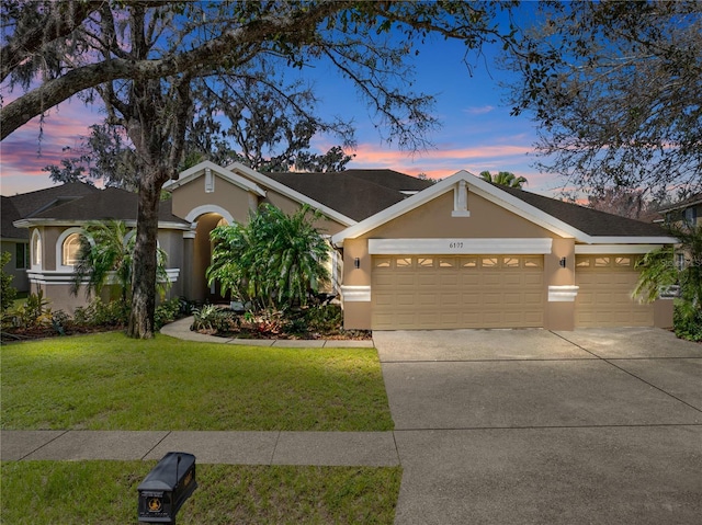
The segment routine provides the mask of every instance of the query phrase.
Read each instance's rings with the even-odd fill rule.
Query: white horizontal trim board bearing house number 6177
[[[551,253],[553,239],[369,239],[371,255],[421,254],[516,254],[539,255]]]

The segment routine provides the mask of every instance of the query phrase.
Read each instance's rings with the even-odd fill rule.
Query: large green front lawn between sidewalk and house
[[[0,347],[4,430],[386,431],[374,349],[275,349],[121,333]]]

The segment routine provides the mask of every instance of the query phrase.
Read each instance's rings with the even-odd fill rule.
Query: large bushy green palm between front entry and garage
[[[218,281],[223,293],[258,309],[305,305],[329,279],[329,246],[313,224],[320,217],[309,206],[286,215],[264,204],[246,226],[215,228],[210,284]]]

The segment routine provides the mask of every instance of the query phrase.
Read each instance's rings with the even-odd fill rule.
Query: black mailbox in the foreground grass
[[[176,524],[176,514],[196,488],[195,456],[169,452],[137,488],[139,522]]]

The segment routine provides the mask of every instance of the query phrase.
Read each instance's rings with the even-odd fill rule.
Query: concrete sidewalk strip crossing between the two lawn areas
[[[201,464],[399,465],[393,432],[1,431],[3,461],[160,459],[186,452]]]

